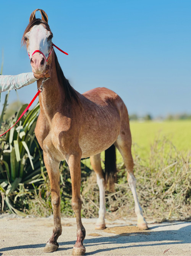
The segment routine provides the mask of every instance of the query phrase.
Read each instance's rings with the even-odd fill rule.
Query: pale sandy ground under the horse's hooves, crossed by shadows
[[[191,222],[152,223],[149,230],[136,227],[135,220],[106,221],[107,229],[94,230],[96,219],[83,219],[86,255],[191,255]],[[1,255],[71,255],[76,241],[75,218],[62,218],[59,248],[43,253],[52,235],[53,218],[18,218],[0,215]]]

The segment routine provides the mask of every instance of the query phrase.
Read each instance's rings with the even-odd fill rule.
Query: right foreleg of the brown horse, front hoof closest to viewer
[[[77,154],[78,155],[78,154]],[[84,255],[86,248],[83,245],[84,238],[86,236],[86,230],[82,225],[81,221],[81,197],[80,197],[80,187],[81,187],[81,165],[80,156],[71,155],[68,159],[68,165],[70,168],[70,176],[72,183],[72,208],[76,215],[77,223],[77,241],[73,248],[72,255]]]

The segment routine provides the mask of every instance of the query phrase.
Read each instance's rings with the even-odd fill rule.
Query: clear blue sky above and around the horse
[[[139,116],[191,113],[190,0],[2,1],[3,74],[31,71],[21,37],[37,8],[49,17],[53,43],[69,54],[55,50],[77,91],[110,88]],[[36,91],[31,84],[19,98],[29,103]],[[11,91],[9,103],[15,100]]]

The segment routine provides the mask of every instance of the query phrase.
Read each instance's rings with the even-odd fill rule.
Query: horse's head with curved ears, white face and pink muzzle
[[[35,17],[37,11],[40,11],[42,19]],[[34,10],[22,38],[31,59],[32,72],[36,74],[44,72],[52,52],[52,37],[47,14],[41,9]]]

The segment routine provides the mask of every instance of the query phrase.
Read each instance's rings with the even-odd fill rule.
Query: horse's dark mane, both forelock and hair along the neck
[[[49,24],[47,22],[45,22],[44,20],[41,20],[39,18],[34,19],[28,24],[28,26],[26,27],[26,29],[23,33],[23,37],[21,40],[21,46],[26,46],[26,41],[24,40],[24,35],[27,32],[29,32],[33,26],[40,25],[40,24],[45,25],[46,30],[48,30],[52,33],[52,31],[50,30]],[[77,92],[70,85],[68,79],[66,79],[63,74],[62,68],[60,67],[60,64],[58,62],[58,58],[57,58],[55,51],[54,51],[54,56],[55,56],[55,66],[56,66],[56,70],[57,70],[58,81],[59,81],[60,85],[63,86],[63,88],[65,90],[66,99],[68,99],[70,102],[73,102],[73,100],[75,99],[76,102],[78,102],[78,104],[81,105]]]

